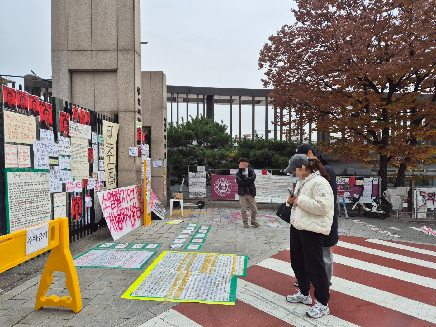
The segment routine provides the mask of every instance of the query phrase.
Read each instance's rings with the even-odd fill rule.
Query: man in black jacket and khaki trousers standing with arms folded
[[[247,203],[251,208],[251,225],[253,227],[260,227],[256,219],[257,204],[256,204],[256,187],[254,181],[256,174],[247,162],[247,159],[239,159],[239,170],[236,173],[236,183],[238,183],[239,203],[241,204],[242,221],[244,228],[249,228],[247,217]]]

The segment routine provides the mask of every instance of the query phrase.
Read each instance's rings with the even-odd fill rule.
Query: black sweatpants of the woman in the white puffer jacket
[[[291,266],[298,280],[298,287],[307,296],[310,283],[315,288],[314,296],[323,305],[330,300],[328,278],[323,258],[324,235],[300,231],[291,225]]]

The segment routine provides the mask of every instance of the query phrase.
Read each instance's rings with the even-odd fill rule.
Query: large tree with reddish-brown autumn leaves
[[[260,53],[266,87],[293,128],[315,123],[344,161],[405,172],[432,162],[436,136],[434,0],[296,0],[296,22]],[[284,121],[283,124],[288,124]]]

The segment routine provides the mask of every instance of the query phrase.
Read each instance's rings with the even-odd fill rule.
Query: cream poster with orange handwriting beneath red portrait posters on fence
[[[35,117],[3,111],[4,141],[33,144],[36,140]]]

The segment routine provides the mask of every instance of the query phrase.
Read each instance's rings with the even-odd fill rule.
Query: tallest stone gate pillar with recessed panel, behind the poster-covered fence
[[[118,187],[141,183],[135,122],[141,87],[140,0],[52,0],[53,96],[118,113]]]

